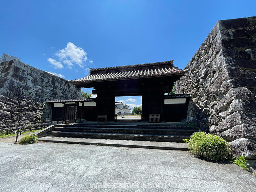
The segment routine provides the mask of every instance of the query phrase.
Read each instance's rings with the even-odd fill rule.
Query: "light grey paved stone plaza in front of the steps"
[[[256,189],[256,177],[237,165],[200,160],[188,151],[46,142],[0,143],[0,148],[0,191],[4,192]],[[93,183],[102,184],[101,188]],[[127,188],[121,188],[124,183]],[[155,183],[164,187],[153,188]]]

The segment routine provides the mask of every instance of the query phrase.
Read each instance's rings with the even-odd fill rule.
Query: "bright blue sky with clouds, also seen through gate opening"
[[[5,0],[0,54],[68,80],[89,68],[172,59],[183,69],[217,20],[256,16],[255,7],[255,0]],[[116,100],[141,103],[139,96]]]

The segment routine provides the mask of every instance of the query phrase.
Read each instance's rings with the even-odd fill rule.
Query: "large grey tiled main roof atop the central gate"
[[[85,82],[110,81],[118,79],[136,79],[155,76],[170,76],[184,74],[188,71],[173,66],[173,60],[145,63],[139,65],[126,65],[108,68],[91,68],[90,74],[82,79],[72,81],[73,84]]]

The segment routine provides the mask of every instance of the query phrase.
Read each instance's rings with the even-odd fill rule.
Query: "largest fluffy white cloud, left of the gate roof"
[[[66,48],[59,50],[56,55],[61,61],[63,60],[63,63],[68,64],[68,68],[72,68],[74,63],[83,68],[83,62],[88,59],[84,49],[71,42],[67,44]]]

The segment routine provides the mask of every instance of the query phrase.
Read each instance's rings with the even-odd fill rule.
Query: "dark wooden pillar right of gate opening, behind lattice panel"
[[[160,114],[161,122],[164,122],[164,92],[142,93],[142,121],[148,121],[148,115]]]

